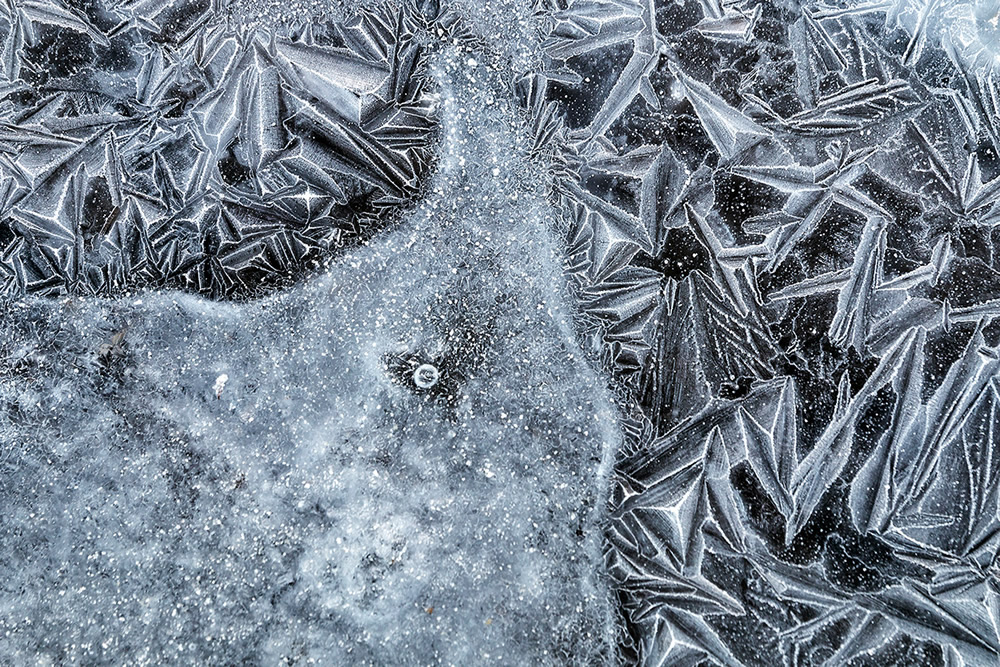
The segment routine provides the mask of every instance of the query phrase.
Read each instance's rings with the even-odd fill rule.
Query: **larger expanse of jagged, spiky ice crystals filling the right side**
[[[554,9],[625,661],[996,664],[998,11]]]

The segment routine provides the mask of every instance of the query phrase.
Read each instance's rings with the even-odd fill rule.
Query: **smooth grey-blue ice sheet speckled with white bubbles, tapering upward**
[[[432,76],[426,197],[328,272],[242,304],[6,307],[6,664],[613,653],[615,415],[574,340],[544,183],[487,66],[445,50]]]

